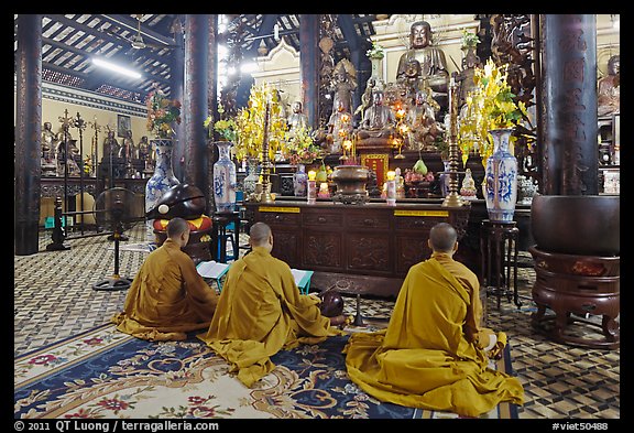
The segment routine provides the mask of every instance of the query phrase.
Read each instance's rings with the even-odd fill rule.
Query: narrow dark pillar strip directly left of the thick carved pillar
[[[183,39],[184,15],[177,15],[172,23],[174,33],[174,42],[178,45],[177,48],[172,51],[172,77],[170,79],[172,87],[172,98],[178,99],[181,104],[185,104],[185,46]],[[181,110],[181,119],[184,118],[184,110]],[[176,142],[172,151],[172,169],[174,175],[178,181],[183,182],[185,177],[185,123],[174,125],[176,131]]]

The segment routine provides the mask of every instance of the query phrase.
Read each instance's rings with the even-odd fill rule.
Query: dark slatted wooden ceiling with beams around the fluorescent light
[[[14,53],[18,48],[14,15]],[[157,85],[170,94],[174,51],[183,50],[183,14],[44,14],[42,79],[131,101],[144,101]],[[350,58],[351,47],[370,46],[374,14],[334,14],[335,61]],[[229,47],[239,45],[243,59],[258,56],[262,43],[274,48],[278,37],[299,51],[298,14],[229,15],[219,35]],[[275,37],[277,36],[277,39]],[[142,78],[128,78],[92,64],[101,56],[130,65]],[[15,59],[14,59],[15,65]]]

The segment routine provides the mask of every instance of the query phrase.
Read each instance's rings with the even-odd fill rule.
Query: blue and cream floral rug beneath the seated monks
[[[196,338],[150,343],[108,324],[17,358],[14,418],[458,418],[365,394],[346,374],[347,340],[280,351],[276,368],[249,389]],[[494,367],[509,371],[509,350]],[[482,418],[517,418],[517,411],[502,403]]]

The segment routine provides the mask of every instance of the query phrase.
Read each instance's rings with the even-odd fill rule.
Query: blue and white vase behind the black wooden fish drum
[[[145,184],[145,213],[156,206],[167,190],[181,183],[172,169],[172,149],[174,148],[172,139],[150,140],[150,145],[156,150],[156,165],[154,174]],[[152,221],[147,221],[147,225],[152,232]]]

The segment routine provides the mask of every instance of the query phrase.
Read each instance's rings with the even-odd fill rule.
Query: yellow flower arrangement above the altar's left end
[[[269,109],[266,109],[269,107]],[[249,95],[247,107],[238,111],[236,125],[238,139],[232,151],[238,160],[258,158],[262,161],[262,147],[264,142],[264,123],[269,110],[267,134],[269,159],[275,160],[275,153],[284,153],[286,119],[282,116],[282,106],[276,89],[263,83],[253,85]]]

